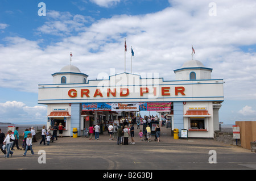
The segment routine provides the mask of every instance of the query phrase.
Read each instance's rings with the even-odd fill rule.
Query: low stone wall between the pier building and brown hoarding
[[[229,145],[241,146],[240,139],[236,140],[233,138],[233,132],[215,131],[214,132],[214,140],[216,140],[218,142],[224,142],[225,144],[229,144]]]

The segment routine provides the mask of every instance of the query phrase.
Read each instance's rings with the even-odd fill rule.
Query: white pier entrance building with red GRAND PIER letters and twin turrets
[[[88,121],[95,124],[99,116],[116,119],[113,116],[117,113],[107,108],[84,111],[90,105],[171,102],[172,129],[187,129],[188,137],[213,138],[218,130],[218,110],[224,101],[223,79],[211,79],[212,69],[197,60],[185,62],[174,73],[175,81],[141,78],[132,73],[88,81],[88,75],[68,65],[52,74],[52,84],[39,85],[38,103],[48,106],[47,127],[53,122],[65,125],[63,136],[72,136],[73,128],[81,136],[89,127]]]

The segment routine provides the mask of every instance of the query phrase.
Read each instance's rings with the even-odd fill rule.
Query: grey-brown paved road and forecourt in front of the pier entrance
[[[137,131],[135,129],[135,131]],[[107,132],[100,140],[64,137],[51,145],[34,143],[35,155],[15,150],[13,157],[0,157],[1,169],[68,169],[68,170],[154,170],[154,169],[256,169],[256,154],[214,140],[174,140],[170,129],[162,130],[161,141],[139,141],[135,145],[117,145]],[[130,140],[129,140],[130,141]],[[46,157],[38,152],[44,150]],[[209,163],[210,150],[216,162]],[[45,158],[45,159],[43,159]],[[46,163],[39,163],[46,161]],[[210,159],[214,161],[214,159]]]

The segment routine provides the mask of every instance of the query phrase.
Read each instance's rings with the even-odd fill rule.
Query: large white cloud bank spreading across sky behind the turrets
[[[113,1],[94,1],[106,6]],[[119,1],[114,1],[118,3]],[[256,54],[240,47],[256,44],[254,1],[215,1],[217,15],[209,16],[209,1],[170,1],[171,7],[145,15],[115,15],[93,19],[69,12],[47,11],[47,22],[39,33],[64,36],[44,49],[39,40],[6,38],[0,47],[5,61],[0,67],[0,85],[22,91],[38,91],[38,84],[52,83],[51,74],[69,64],[89,79],[115,68],[124,70],[124,37],[128,52],[133,46],[134,73],[158,72],[174,80],[174,69],[194,58],[213,68],[212,78],[224,78],[225,99],[256,99]],[[248,21],[250,19],[250,21]],[[87,24],[86,24],[87,23]],[[76,32],[76,33],[74,33]],[[130,56],[126,54],[126,70]],[[146,66],[145,66],[146,65]]]

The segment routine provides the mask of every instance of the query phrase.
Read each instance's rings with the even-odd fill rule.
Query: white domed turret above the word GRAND
[[[63,83],[87,83],[88,75],[81,73],[74,65],[67,65],[59,72],[52,74],[54,84]]]

